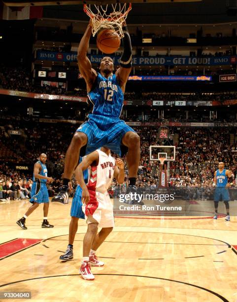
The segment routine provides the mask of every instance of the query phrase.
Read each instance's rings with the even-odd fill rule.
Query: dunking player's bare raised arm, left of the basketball
[[[97,77],[96,71],[91,67],[91,62],[87,57],[87,50],[89,48],[89,41],[91,38],[92,33],[92,22],[90,20],[90,23],[88,24],[86,31],[81,38],[81,41],[78,46],[77,51],[77,61],[78,61],[78,67],[79,72],[84,77],[87,85],[87,91],[91,90],[91,87]]]

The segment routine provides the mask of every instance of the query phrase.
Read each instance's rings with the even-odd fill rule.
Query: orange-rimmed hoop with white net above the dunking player
[[[118,33],[119,38],[124,37],[122,24],[132,9],[132,3],[115,3],[111,5],[84,4],[84,12],[92,20],[92,35],[101,29],[112,29]]]

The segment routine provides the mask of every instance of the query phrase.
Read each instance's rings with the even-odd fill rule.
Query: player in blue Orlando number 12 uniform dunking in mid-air
[[[120,68],[113,74],[113,60],[104,57],[100,65],[100,73],[92,68],[86,56],[92,33],[91,21],[78,47],[79,71],[87,85],[88,99],[93,104],[93,111],[75,132],[65,159],[64,179],[61,192],[53,201],[66,203],[68,182],[78,163],[80,149],[86,146],[86,154],[108,147],[111,151],[121,155],[121,145],[128,148],[127,164],[129,169],[130,191],[135,191],[135,182],[140,159],[140,139],[135,131],[121,120],[125,86],[131,72],[132,46],[126,23],[123,24],[123,54]],[[84,149],[84,148],[83,148]],[[82,154],[81,150],[81,156]]]

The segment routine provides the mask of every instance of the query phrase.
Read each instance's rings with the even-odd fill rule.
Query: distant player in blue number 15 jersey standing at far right
[[[219,201],[224,201],[226,206],[226,218],[225,221],[230,221],[230,195],[228,188],[230,187],[231,183],[234,180],[233,172],[231,170],[224,169],[225,164],[224,162],[219,162],[218,165],[219,169],[214,173],[214,183],[213,186],[215,188],[214,192],[214,206],[215,206],[215,215],[213,219],[217,219],[218,217],[218,203]]]

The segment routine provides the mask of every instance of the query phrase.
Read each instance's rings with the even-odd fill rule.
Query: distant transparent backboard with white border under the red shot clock
[[[150,146],[150,160],[160,160],[165,158],[166,161],[175,160],[175,146]]]

